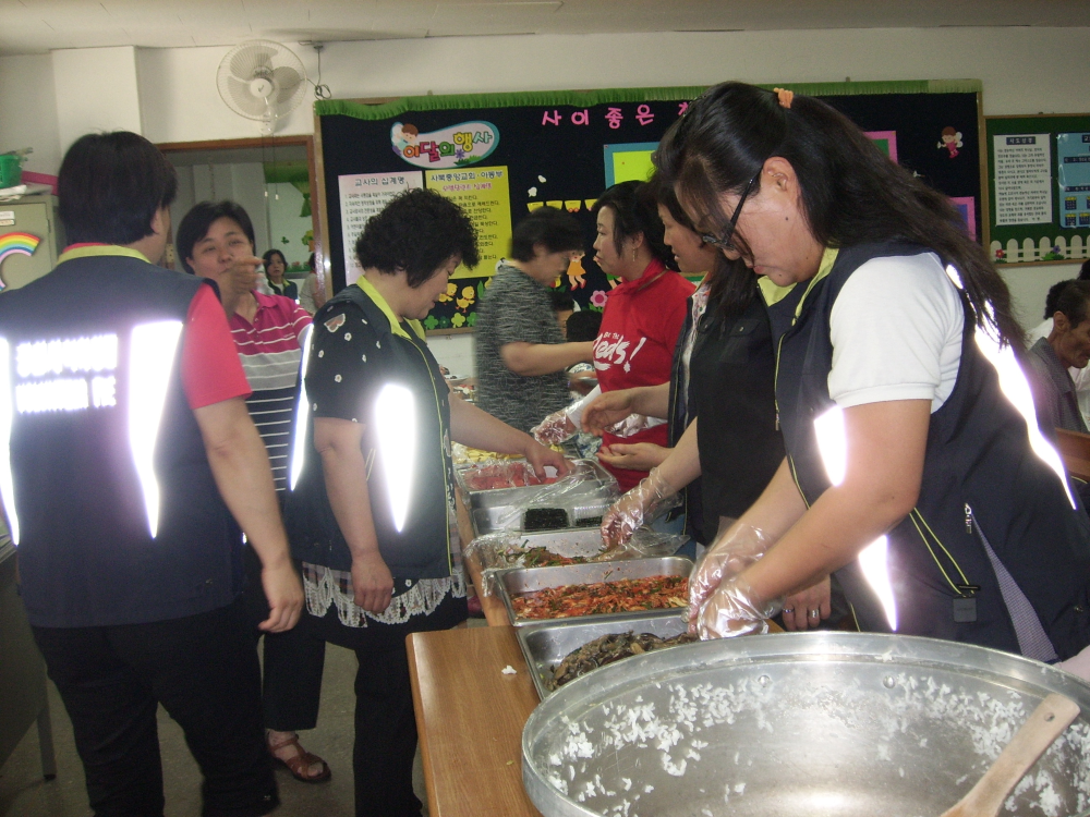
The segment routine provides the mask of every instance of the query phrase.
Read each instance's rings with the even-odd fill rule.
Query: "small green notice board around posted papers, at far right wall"
[[[1008,252],[1008,242],[1014,239],[1018,242],[1019,252],[1025,252],[1025,241],[1027,239],[1032,239],[1036,243],[1036,257],[1022,260],[1020,257],[1018,260],[1007,259],[995,259],[997,264],[1003,264],[1005,266],[1024,266],[1024,265],[1045,265],[1045,264],[1070,264],[1071,261],[1081,260],[1083,258],[1090,257],[1090,228],[1062,228],[1059,225],[1059,193],[1056,186],[1056,179],[1058,178],[1058,161],[1056,151],[1056,134],[1059,133],[1071,133],[1071,132],[1086,132],[1090,133],[1090,113],[1039,113],[1034,115],[1004,115],[1004,117],[984,117],[984,139],[985,149],[982,151],[986,157],[988,161],[988,228],[990,241],[989,245],[984,248],[988,249],[989,255],[995,258],[995,251],[1003,249]],[[1051,143],[1051,154],[1052,154],[1052,217],[1053,221],[1049,224],[1015,224],[1013,227],[996,227],[995,225],[995,168],[993,166],[993,136],[1003,136],[1007,134],[1019,134],[1019,133],[1047,133]],[[1080,236],[1082,240],[1081,255],[1071,255],[1071,248],[1069,246],[1070,240],[1074,236]],[[1063,237],[1064,245],[1066,249],[1065,258],[1047,258],[1047,253],[1041,252],[1040,242],[1041,239],[1047,239],[1049,247],[1056,243],[1056,240]],[[1042,259],[1045,257],[1046,259]]]

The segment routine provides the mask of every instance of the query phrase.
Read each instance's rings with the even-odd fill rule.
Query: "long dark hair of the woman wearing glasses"
[[[1002,342],[1022,349],[1022,330],[1010,292],[983,247],[942,193],[889,161],[847,117],[813,97],[790,108],[775,93],[723,83],[689,106],[658,148],[658,168],[698,221],[727,225],[718,197],[741,193],[778,156],[799,180],[803,216],[824,246],[903,241],[930,247],[961,277],[977,326],[994,328]],[[744,236],[736,239],[749,256]]]

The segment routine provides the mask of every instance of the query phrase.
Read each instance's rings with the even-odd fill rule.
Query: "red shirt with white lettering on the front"
[[[686,301],[695,289],[679,273],[666,269],[662,261],[652,261],[638,279],[626,281],[609,293],[602,329],[594,341],[594,368],[602,391],[657,386],[670,379],[674,346],[685,324]],[[602,443],[666,446],[668,431],[669,425],[664,423],[631,437],[606,432]],[[625,491],[647,475],[645,471],[605,467]]]

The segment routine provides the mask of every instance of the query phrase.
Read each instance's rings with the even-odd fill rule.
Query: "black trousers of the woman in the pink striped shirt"
[[[318,723],[326,643],[306,626],[306,615],[287,633],[263,633],[257,629],[269,614],[262,587],[262,562],[253,548],[246,547],[242,552],[246,571],[246,588],[242,595],[253,641],[265,636],[262,673],[265,728],[278,732],[314,729]]]

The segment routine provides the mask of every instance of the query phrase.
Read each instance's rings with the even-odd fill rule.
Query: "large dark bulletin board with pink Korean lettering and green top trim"
[[[855,121],[889,157],[949,196],[978,241],[983,118],[977,80],[790,84]],[[772,86],[766,86],[772,87]],[[428,187],[464,207],[480,233],[481,263],[459,267],[424,321],[433,333],[470,331],[476,305],[509,252],[511,228],[542,206],[567,209],[586,255],[558,289],[601,309],[610,281],[592,260],[591,208],[607,186],[646,180],[666,130],[704,87],[424,96],[315,102],[316,200],[334,290],[359,275],[352,249],[367,218],[397,193]],[[946,134],[956,134],[948,138]]]

